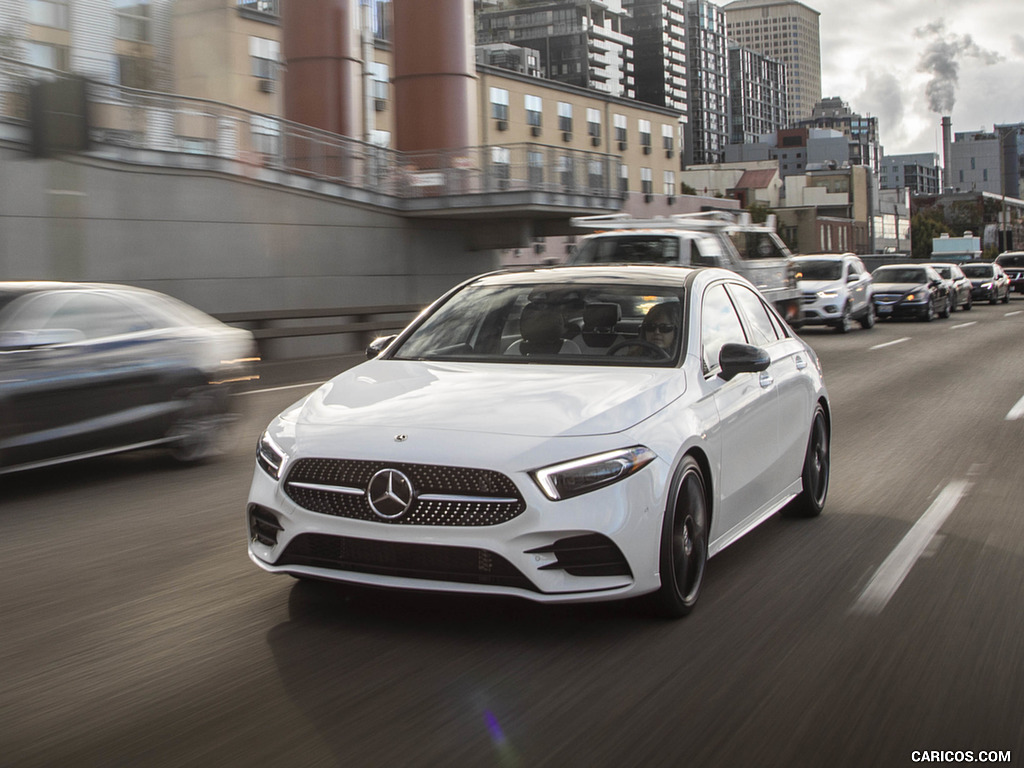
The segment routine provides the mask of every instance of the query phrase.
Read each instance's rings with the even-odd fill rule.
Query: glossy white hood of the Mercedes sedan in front
[[[685,391],[679,369],[370,360],[283,418],[303,427],[387,427],[520,436],[621,432]]]

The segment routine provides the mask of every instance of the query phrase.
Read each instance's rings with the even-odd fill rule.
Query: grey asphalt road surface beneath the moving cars
[[[257,569],[255,440],[333,364],[268,369],[214,463],[3,478],[0,765],[1021,764],[1024,300],[804,337],[826,510],[714,558],[679,622]]]

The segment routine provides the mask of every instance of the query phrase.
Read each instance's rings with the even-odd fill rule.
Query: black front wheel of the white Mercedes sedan
[[[693,610],[708,564],[708,495],[700,466],[683,459],[676,494],[662,526],[662,589],[654,593],[657,612],[667,617]]]

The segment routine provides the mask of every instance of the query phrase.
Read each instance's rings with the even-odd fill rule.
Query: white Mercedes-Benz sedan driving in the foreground
[[[458,286],[259,440],[268,571],[540,602],[695,605],[708,558],[821,512],[811,348],[715,268],[550,267]]]

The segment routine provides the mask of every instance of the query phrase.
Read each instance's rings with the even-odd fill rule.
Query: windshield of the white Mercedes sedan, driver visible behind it
[[[396,359],[674,366],[685,289],[593,283],[473,284],[389,356]]]

